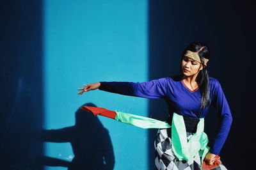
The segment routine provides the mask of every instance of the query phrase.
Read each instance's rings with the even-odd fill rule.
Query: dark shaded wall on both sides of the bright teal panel
[[[44,147],[37,137],[44,112],[42,2],[1,1],[0,17],[0,169],[43,169],[38,157]],[[180,60],[172,56],[180,56],[188,43],[209,45],[209,73],[221,82],[234,120],[221,160],[228,169],[250,169],[255,112],[252,3],[148,1],[148,19],[150,79],[179,73]],[[154,118],[165,118],[159,113],[167,112],[166,108],[163,101],[150,100],[149,112],[157,113]],[[208,134],[216,133],[216,117],[213,109],[206,118]],[[148,146],[155,135],[151,130]],[[154,169],[154,151],[149,148],[148,167]]]

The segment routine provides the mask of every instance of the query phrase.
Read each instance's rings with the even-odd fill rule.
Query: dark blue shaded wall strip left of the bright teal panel
[[[0,1],[0,169],[42,170],[42,4]]]

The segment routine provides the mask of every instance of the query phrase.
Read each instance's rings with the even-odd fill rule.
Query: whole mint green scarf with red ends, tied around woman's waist
[[[204,162],[205,155],[209,152],[207,146],[208,137],[204,133],[204,118],[200,118],[197,124],[196,133],[190,139],[187,139],[186,126],[182,115],[173,113],[172,126],[165,121],[159,121],[144,116],[129,114],[125,112],[110,111],[102,107],[83,106],[80,109],[86,112],[91,112],[94,115],[106,116],[116,121],[133,125],[140,128],[171,128],[172,127],[172,150],[179,160],[193,160],[196,153],[200,153],[202,157],[202,169],[218,167],[221,164],[220,157],[216,157],[213,165]]]

